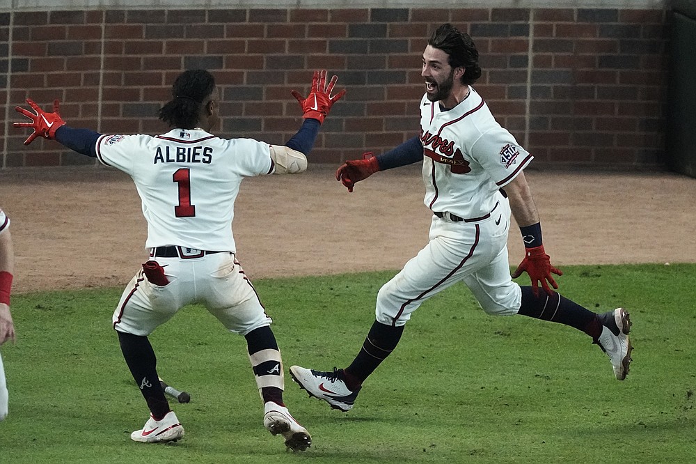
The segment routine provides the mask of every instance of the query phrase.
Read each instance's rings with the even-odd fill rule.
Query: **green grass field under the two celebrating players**
[[[111,329],[121,289],[15,295],[17,344],[1,348],[10,415],[0,462],[695,462],[696,265],[563,270],[571,300],[631,312],[626,381],[584,334],[487,316],[460,285],[416,311],[348,413],[309,399],[287,368],[347,365],[394,272],[256,281],[283,352],[285,401],[313,435],[303,454],[264,430],[244,338],[202,307],[150,337],[161,376],[191,393],[172,403],[187,435],[141,444],[129,433],[148,410]]]

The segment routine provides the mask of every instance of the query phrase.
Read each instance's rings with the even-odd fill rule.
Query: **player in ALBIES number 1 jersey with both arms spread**
[[[113,314],[123,356],[150,408],[150,419],[131,434],[132,440],[169,442],[184,435],[161,388],[148,335],[185,305],[199,302],[230,332],[246,338],[264,401],[264,426],[273,435],[283,435],[293,451],[310,446],[310,434],[283,403],[283,364],[271,318],[237,261],[231,222],[242,179],[306,170],[306,155],[319,125],[345,94],[344,90],[331,96],[336,79],[327,82],[326,71],[317,71],[307,98],[292,92],[304,122],[285,146],[211,134],[220,122],[220,95],[205,70],[177,77],[172,100],[159,111],[159,118],[172,129],[157,137],[102,135],[67,127],[57,101],[54,113],[42,111],[31,100],[27,102],[35,113],[17,107],[32,122],[15,127],[35,131],[25,144],[40,135],[95,156],[128,173],[141,197],[150,260],[125,288]]]

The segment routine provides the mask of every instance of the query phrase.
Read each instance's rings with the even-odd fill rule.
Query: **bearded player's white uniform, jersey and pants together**
[[[470,87],[448,111],[424,96],[420,125],[425,206],[464,220],[433,216],[428,244],[377,293],[377,320],[404,325],[422,302],[459,281],[488,314],[516,314],[522,293],[510,277],[507,254],[512,212],[499,190],[532,155]]]

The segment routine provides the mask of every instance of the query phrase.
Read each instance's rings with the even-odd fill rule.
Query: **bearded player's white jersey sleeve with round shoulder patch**
[[[503,127],[485,132],[471,147],[471,156],[481,164],[498,187],[514,179],[534,159]]]

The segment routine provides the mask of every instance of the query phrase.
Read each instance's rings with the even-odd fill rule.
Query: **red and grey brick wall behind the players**
[[[663,164],[663,10],[583,8],[94,10],[0,13],[1,167],[93,164],[53,141],[25,147],[13,111],[31,97],[72,127],[166,131],[157,110],[175,76],[211,70],[223,137],[280,144],[301,123],[290,90],[326,68],[348,89],[312,162],[381,153],[418,134],[427,36],[452,22],[473,37],[475,85],[539,164]]]

